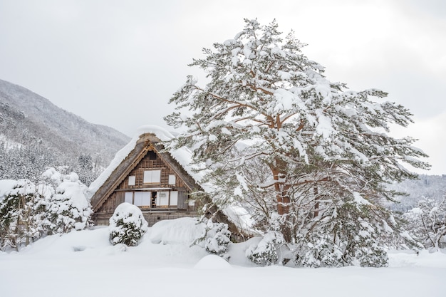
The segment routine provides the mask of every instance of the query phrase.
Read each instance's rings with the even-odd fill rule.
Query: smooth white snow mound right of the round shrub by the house
[[[157,222],[148,239],[153,244],[192,244],[202,236],[206,225],[195,218],[180,218]]]

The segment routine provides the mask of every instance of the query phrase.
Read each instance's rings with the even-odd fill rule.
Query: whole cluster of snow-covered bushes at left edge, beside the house
[[[63,172],[64,168],[59,168]],[[81,230],[93,225],[87,187],[76,173],[54,168],[43,172],[37,184],[15,181],[13,189],[0,197],[0,248],[28,245],[46,234]],[[14,181],[11,181],[14,182]]]

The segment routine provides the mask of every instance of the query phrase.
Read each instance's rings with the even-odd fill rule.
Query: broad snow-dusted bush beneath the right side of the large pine
[[[364,202],[345,202],[331,213],[323,224],[312,232],[302,232],[294,244],[297,266],[388,266],[388,255],[383,249],[383,234],[391,232],[388,213],[382,212],[381,221],[369,212],[378,207]],[[386,222],[386,220],[389,221]]]

